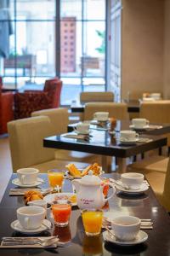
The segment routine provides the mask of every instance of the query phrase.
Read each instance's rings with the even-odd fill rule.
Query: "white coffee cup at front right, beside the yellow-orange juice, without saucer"
[[[131,241],[139,233],[140,219],[133,216],[121,216],[111,220],[111,228],[116,238]]]

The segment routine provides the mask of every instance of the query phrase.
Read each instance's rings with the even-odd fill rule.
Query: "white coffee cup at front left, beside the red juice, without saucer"
[[[46,215],[46,210],[37,206],[20,207],[16,212],[21,226],[26,230],[38,229]]]

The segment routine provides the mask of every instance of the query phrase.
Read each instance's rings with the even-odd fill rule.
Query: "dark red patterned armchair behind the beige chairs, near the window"
[[[15,119],[23,119],[31,116],[31,112],[58,108],[62,81],[59,79],[46,80],[43,91],[26,90],[24,93],[14,95]]]

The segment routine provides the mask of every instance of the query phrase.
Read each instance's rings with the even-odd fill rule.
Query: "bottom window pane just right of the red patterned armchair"
[[[72,101],[77,101],[82,91],[81,79],[62,78],[63,87],[61,91],[61,105],[71,105]]]

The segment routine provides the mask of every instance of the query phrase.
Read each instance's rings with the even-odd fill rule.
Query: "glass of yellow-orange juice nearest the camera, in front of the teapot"
[[[87,236],[98,236],[101,232],[103,212],[101,210],[83,210],[82,223]]]

